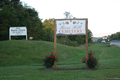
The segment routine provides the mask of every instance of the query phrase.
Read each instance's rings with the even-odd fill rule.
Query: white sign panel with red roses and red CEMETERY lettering
[[[56,20],[57,35],[85,35],[86,20]]]

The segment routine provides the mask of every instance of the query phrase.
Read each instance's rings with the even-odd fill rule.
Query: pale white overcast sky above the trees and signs
[[[43,21],[64,19],[65,11],[76,18],[88,18],[93,37],[120,32],[120,0],[20,0],[35,8]]]

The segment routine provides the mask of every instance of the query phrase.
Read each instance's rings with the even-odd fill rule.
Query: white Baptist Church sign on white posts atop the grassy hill
[[[11,40],[11,36],[26,36],[26,40],[27,40],[27,28],[26,27],[10,27],[9,28],[9,40]]]

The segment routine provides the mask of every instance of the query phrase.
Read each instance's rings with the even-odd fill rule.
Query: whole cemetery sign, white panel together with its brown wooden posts
[[[54,20],[54,54],[57,56],[57,35],[86,35],[86,59],[88,59],[88,19],[55,19]],[[54,62],[56,68],[57,62]],[[88,68],[86,62],[86,68]]]

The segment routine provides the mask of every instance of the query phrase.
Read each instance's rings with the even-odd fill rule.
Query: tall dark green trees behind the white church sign
[[[10,27],[27,27],[28,37],[41,39],[42,22],[34,8],[23,7],[20,0],[0,1],[0,40],[8,40]],[[16,37],[13,37],[13,39]]]

